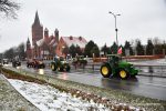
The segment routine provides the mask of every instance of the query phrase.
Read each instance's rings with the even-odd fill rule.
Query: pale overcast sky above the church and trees
[[[15,0],[14,0],[15,1]],[[166,40],[166,0],[17,0],[21,3],[18,20],[0,18],[0,52],[31,39],[31,26],[38,10],[43,28],[60,37],[84,37],[100,47],[110,47],[116,40],[117,17],[118,42],[148,38]]]

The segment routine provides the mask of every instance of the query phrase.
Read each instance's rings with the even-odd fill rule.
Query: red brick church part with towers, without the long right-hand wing
[[[40,23],[37,11],[32,24],[32,46],[29,39],[27,41],[27,58],[50,58],[54,56],[58,42],[59,30],[55,29],[54,36],[49,36],[48,28],[43,32],[43,26]]]

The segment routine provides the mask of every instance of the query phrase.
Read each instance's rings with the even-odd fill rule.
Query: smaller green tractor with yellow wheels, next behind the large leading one
[[[60,58],[54,57],[53,61],[51,62],[51,69],[52,69],[52,71],[61,71],[61,72],[66,71],[66,72],[69,72],[71,67],[70,67],[69,62],[66,62],[64,60],[63,57],[60,57]]]

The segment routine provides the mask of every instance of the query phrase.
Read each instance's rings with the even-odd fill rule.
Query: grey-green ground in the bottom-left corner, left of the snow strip
[[[0,111],[40,111],[0,73]]]

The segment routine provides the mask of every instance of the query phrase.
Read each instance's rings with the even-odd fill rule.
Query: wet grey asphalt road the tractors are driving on
[[[53,72],[50,69],[28,69],[25,65],[22,65],[21,69],[89,85],[115,89],[117,91],[125,91],[137,95],[166,100],[166,78],[137,75],[136,79],[120,80],[117,78],[103,78],[100,72]]]

